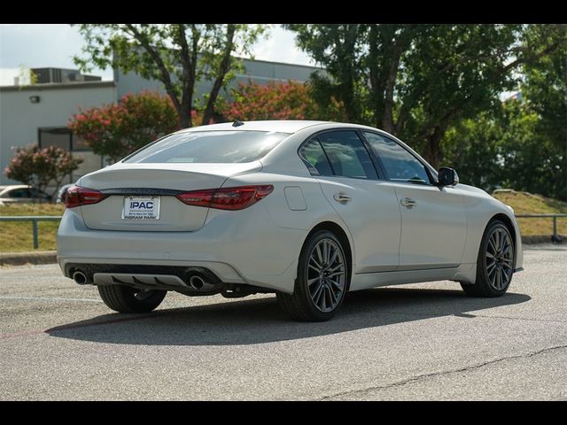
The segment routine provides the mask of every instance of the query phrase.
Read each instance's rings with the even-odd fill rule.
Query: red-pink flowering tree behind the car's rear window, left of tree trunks
[[[168,97],[144,91],[128,94],[118,104],[81,109],[68,127],[97,155],[120,158],[179,129],[177,112]]]

